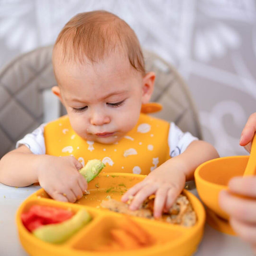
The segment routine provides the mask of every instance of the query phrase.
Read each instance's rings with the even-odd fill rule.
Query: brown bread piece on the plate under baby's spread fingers
[[[132,199],[133,198],[129,198],[127,203],[114,199],[103,200],[100,206],[111,211],[120,212],[131,216],[154,219],[154,196],[148,197],[138,210],[129,209],[129,204],[131,203]],[[188,198],[182,194],[177,197],[169,212],[163,213],[162,218],[159,220],[179,224],[185,227],[191,227],[196,223],[196,214]]]

